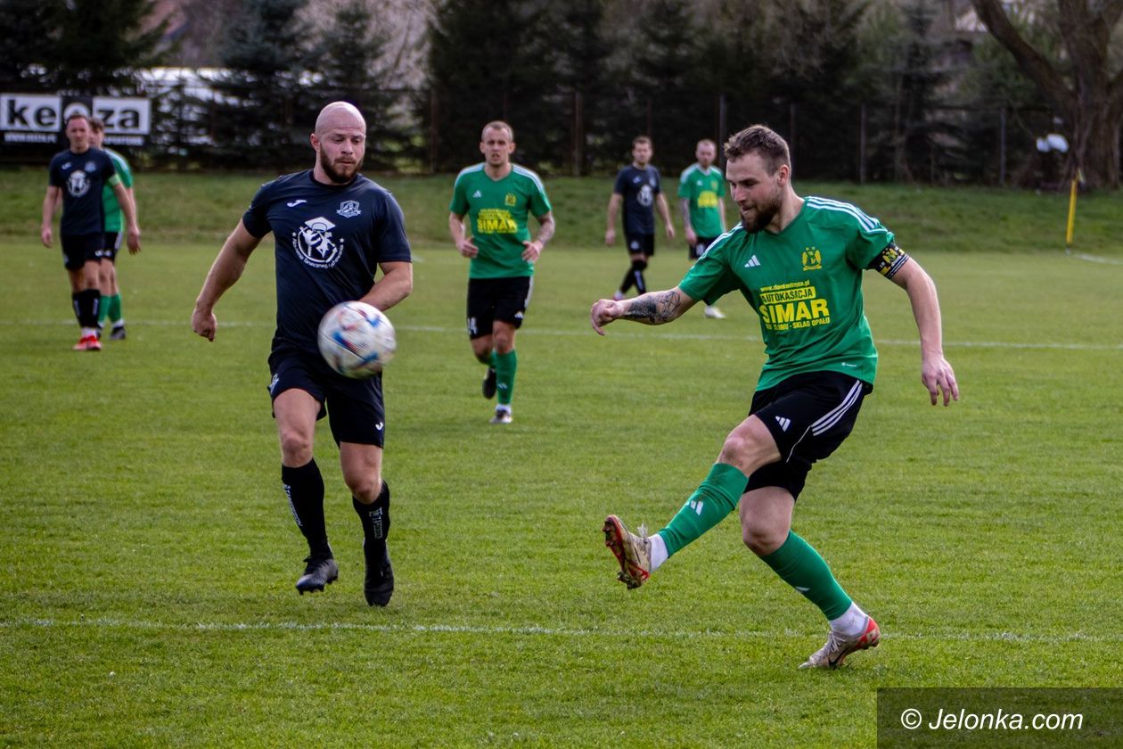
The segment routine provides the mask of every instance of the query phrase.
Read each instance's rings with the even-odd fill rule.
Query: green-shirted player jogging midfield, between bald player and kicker
[[[468,338],[487,366],[484,398],[499,394],[492,423],[511,423],[518,357],[514,334],[530,304],[535,262],[554,236],[554,214],[538,175],[511,163],[514,131],[506,122],[484,126],[482,164],[464,168],[453,186],[448,231],[468,266]],[[464,218],[468,217],[468,237]],[[528,217],[538,219],[531,239]]]

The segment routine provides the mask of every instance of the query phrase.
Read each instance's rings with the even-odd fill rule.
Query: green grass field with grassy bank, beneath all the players
[[[624,270],[608,180],[548,181],[558,239],[519,335],[515,422],[487,424],[462,331],[449,177],[387,180],[416,291],[391,318],[391,605],[363,602],[357,520],[326,424],[339,582],[298,596],[265,356],[271,243],[190,313],[262,177],[140,175],[120,263],[129,339],[76,337],[44,177],[0,172],[0,745],[862,747],[886,686],[1120,686],[1123,220],[1119,198],[800,185],[858,202],[934,276],[962,400],[931,408],[907,298],[869,277],[880,369],[816,466],[795,529],[884,631],[847,668],[796,666],[824,622],[740,542],[706,535],[628,592],[608,512],[660,527],[748,405],[763,346],[723,321],[590,329]],[[686,268],[658,241],[652,287]]]

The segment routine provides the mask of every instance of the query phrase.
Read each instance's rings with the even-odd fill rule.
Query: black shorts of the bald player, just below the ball
[[[316,418],[328,417],[337,445],[356,442],[382,447],[385,436],[382,375],[350,380],[332,372],[319,354],[304,354],[290,347],[273,349],[270,374],[268,391],[273,400],[295,387],[320,402]]]

